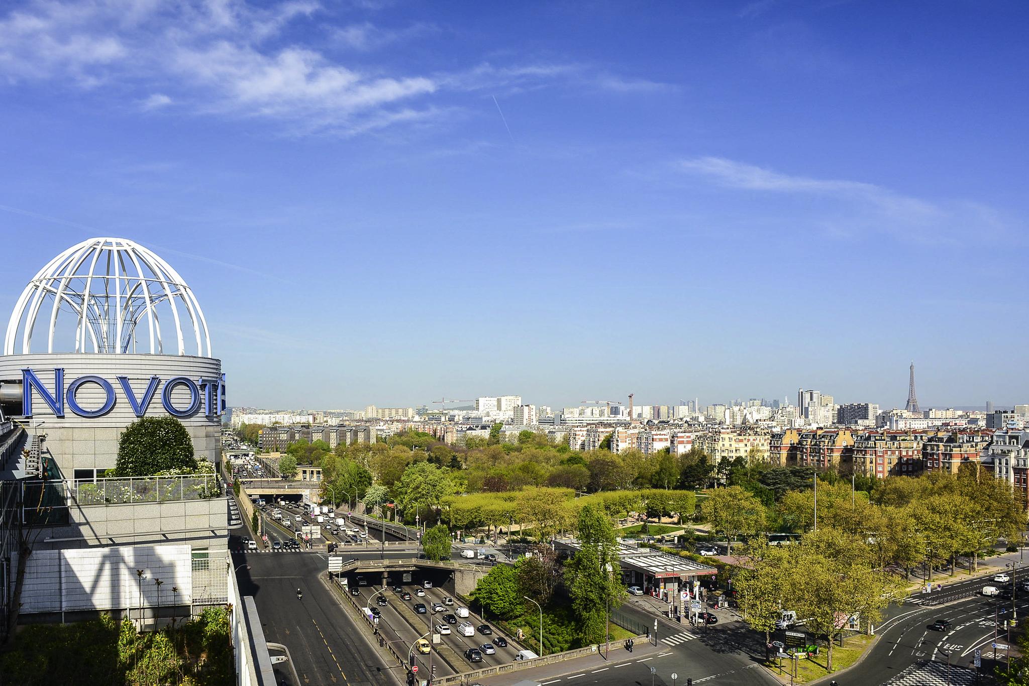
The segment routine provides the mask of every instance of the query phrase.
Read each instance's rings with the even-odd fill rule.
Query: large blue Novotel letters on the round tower
[[[128,376],[115,376],[115,378],[136,417],[146,414],[150,400],[153,399],[157,387],[161,386],[161,376],[150,376],[142,395],[136,394]],[[99,407],[85,408],[78,403],[78,390],[87,384],[98,386],[103,391],[104,401]],[[178,399],[178,404],[175,404],[172,402],[172,392],[177,388],[185,389],[186,393],[185,397]],[[55,367],[54,389],[51,391],[40,381],[35,371],[24,368],[22,369],[22,413],[25,417],[32,417],[33,390],[39,394],[39,397],[56,417],[65,416],[65,406],[79,417],[103,417],[111,411],[117,402],[114,385],[103,376],[85,374],[75,378],[65,388],[64,368]],[[161,405],[166,412],[174,417],[192,417],[201,411],[207,417],[218,417],[225,411],[225,374],[210,378],[201,377],[196,381],[188,376],[173,376],[166,381],[161,389]]]

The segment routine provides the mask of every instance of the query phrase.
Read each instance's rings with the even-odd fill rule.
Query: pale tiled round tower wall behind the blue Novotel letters
[[[45,450],[57,462],[65,478],[72,478],[75,469],[109,469],[115,465],[118,437],[127,426],[137,419],[132,405],[117,382],[117,376],[128,376],[137,399],[142,400],[151,375],[161,377],[161,384],[147,405],[144,417],[167,417],[161,404],[165,382],[173,376],[217,378],[221,362],[213,358],[185,355],[98,355],[98,354],[33,354],[0,355],[0,381],[22,381],[22,369],[30,367],[50,392],[54,391],[54,369],[65,370],[65,389],[75,378],[95,374],[107,380],[114,388],[114,407],[98,418],[78,417],[65,403],[65,417],[55,417],[38,393],[33,392],[33,418],[28,426],[36,426],[46,435]],[[104,392],[96,384],[84,384],[75,396],[84,409],[95,409],[103,404]],[[173,404],[188,404],[188,392],[182,386],[172,392]],[[221,420],[207,417],[200,409],[188,418],[178,418],[192,438],[198,459],[216,463],[221,460]]]

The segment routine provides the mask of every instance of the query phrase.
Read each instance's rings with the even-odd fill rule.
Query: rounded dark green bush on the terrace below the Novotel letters
[[[174,417],[143,417],[126,427],[118,439],[116,476],[150,476],[197,467],[189,432]]]

